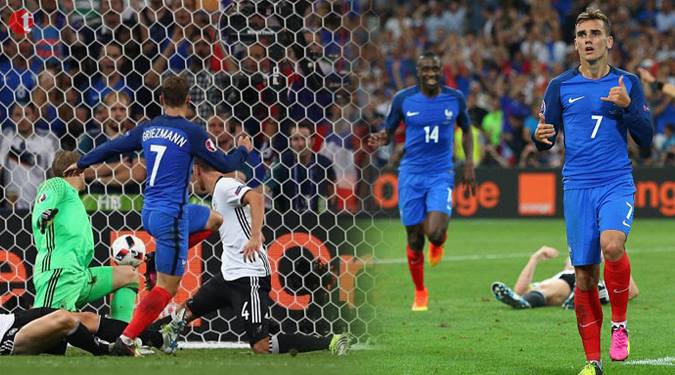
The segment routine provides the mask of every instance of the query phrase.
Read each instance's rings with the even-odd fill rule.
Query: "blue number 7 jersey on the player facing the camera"
[[[631,98],[625,109],[600,100],[618,86],[622,75]],[[555,126],[556,134],[559,130],[564,133],[565,189],[591,188],[617,178],[632,178],[628,131],[638,145],[651,144],[653,129],[640,80],[614,67],[599,79],[585,78],[578,68],[554,78],[544,94],[542,112],[545,122]],[[551,147],[535,143],[540,150]]]

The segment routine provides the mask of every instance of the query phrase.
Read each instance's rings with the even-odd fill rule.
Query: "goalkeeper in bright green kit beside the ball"
[[[80,159],[78,153],[59,151],[51,178],[38,188],[31,224],[37,247],[33,270],[35,304],[69,311],[115,293],[112,318],[131,319],[138,292],[138,272],[131,266],[89,267],[94,256],[94,235],[80,200],[84,175],[63,177]]]

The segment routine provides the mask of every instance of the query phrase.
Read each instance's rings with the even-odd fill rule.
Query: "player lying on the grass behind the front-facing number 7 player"
[[[532,283],[537,264],[544,260],[556,258],[558,254],[558,250],[549,246],[542,246],[530,256],[530,260],[523,270],[520,271],[520,276],[518,276],[518,281],[516,281],[513,289],[501,281],[496,281],[492,284],[492,294],[494,294],[497,301],[515,309],[544,306],[562,306],[565,309],[574,309],[576,277],[574,267],[569,258],[565,262],[565,267],[562,271],[546,280]],[[637,284],[635,284],[631,276],[628,298],[633,299],[637,295]],[[600,303],[603,305],[609,303],[609,293],[607,292],[605,282],[602,280],[598,283],[598,296]]]

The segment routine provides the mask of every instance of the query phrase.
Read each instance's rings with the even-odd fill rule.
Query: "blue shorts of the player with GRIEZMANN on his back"
[[[158,210],[143,210],[143,227],[155,238],[157,272],[182,276],[187,263],[190,233],[206,227],[211,210],[206,206],[187,204],[181,217]]]

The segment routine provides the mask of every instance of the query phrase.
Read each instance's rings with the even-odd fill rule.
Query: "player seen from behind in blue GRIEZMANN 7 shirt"
[[[185,271],[187,251],[222,223],[222,217],[208,207],[188,204],[188,186],[195,157],[222,173],[242,167],[251,139],[240,136],[239,147],[229,155],[218,150],[199,125],[185,119],[189,86],[185,79],[171,76],[162,85],[164,115],[141,124],[84,155],[68,174],[81,173],[90,165],[136,150],[143,150],[146,169],[143,227],[154,238],[157,285],[143,298],[124,333],[115,342],[113,353],[137,355],[134,339],[166,307]],[[192,235],[190,235],[192,234]]]

